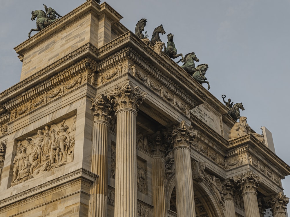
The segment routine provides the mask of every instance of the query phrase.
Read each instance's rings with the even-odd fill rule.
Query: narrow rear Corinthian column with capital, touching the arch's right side
[[[235,216],[235,188],[229,179],[223,183],[222,191],[224,193],[224,216],[233,217]]]

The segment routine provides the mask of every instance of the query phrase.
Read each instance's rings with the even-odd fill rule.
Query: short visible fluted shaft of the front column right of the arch
[[[257,192],[244,192],[242,194],[246,217],[260,216]]]

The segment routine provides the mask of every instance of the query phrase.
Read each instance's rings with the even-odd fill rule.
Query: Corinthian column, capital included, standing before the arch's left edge
[[[173,128],[177,217],[195,216],[193,182],[190,160],[190,141],[197,131],[182,121]]]

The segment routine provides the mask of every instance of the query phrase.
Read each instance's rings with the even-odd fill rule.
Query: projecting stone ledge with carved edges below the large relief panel
[[[17,205],[19,203],[22,203],[24,201],[30,200],[31,198],[35,198],[38,196],[41,196],[43,194],[46,194],[48,192],[51,192],[53,190],[59,189],[61,187],[65,187],[68,185],[71,185],[72,183],[76,181],[85,181],[89,184],[93,183],[93,180],[96,179],[98,175],[86,170],[86,169],[77,169],[73,172],[70,172],[68,174],[62,175],[58,178],[52,179],[46,183],[43,183],[41,185],[37,185],[35,187],[26,189],[25,191],[19,192],[17,194],[14,194],[8,198],[0,200],[0,210],[7,209],[11,206]],[[66,181],[68,179],[68,181]],[[54,185],[56,184],[56,185]],[[51,186],[51,188],[49,188]],[[41,189],[44,188],[46,190]],[[40,192],[39,192],[40,190]],[[33,194],[33,192],[36,192]],[[27,197],[24,197],[25,195],[29,195]],[[13,203],[11,202],[13,201]],[[10,202],[10,203],[9,203]],[[4,206],[2,206],[5,204]]]

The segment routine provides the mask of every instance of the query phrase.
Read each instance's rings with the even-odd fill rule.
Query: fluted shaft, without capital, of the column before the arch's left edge
[[[175,162],[177,217],[195,217],[190,147],[173,149]]]

